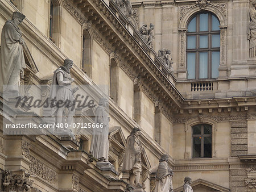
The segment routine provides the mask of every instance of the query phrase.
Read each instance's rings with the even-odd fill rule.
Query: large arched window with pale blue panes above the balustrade
[[[188,23],[187,78],[218,78],[220,22],[210,12],[199,12]]]

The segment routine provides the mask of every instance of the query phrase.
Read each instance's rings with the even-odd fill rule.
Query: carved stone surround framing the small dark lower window
[[[199,118],[193,118],[185,123],[185,158],[192,158],[192,127],[197,124],[210,124],[212,126],[212,158],[217,157],[215,149],[217,122],[211,118],[199,116]]]

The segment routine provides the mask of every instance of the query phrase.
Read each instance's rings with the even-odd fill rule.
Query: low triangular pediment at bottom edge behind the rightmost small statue
[[[202,180],[202,179],[199,179],[199,180],[196,180],[196,181],[192,182],[191,186],[192,186],[194,192],[230,191],[226,187],[222,187],[220,185],[217,185],[215,183],[205,181],[205,180]],[[178,187],[174,191],[175,192],[182,192],[183,191],[183,186]]]

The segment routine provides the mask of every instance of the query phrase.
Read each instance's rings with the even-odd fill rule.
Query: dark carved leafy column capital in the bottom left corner
[[[33,183],[30,173],[11,174],[9,170],[3,172],[4,191],[29,191]]]

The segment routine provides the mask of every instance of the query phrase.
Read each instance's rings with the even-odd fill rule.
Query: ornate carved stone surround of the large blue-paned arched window
[[[226,4],[225,5],[226,9]],[[186,6],[184,6],[186,7]],[[205,7],[200,7],[199,5],[187,6],[188,10],[185,10],[184,15],[180,11],[180,23],[179,23],[179,65],[177,66],[177,79],[178,80],[187,80],[187,66],[186,66],[186,39],[187,39],[187,25],[191,16],[200,11],[209,11],[215,14],[220,21],[220,67],[219,67],[219,77],[226,77],[226,52],[227,52],[227,20],[226,12],[220,10],[218,7],[221,7],[218,4],[207,4]],[[222,7],[222,9],[224,9]],[[181,10],[181,9],[180,9]],[[226,10],[225,10],[226,11]]]

